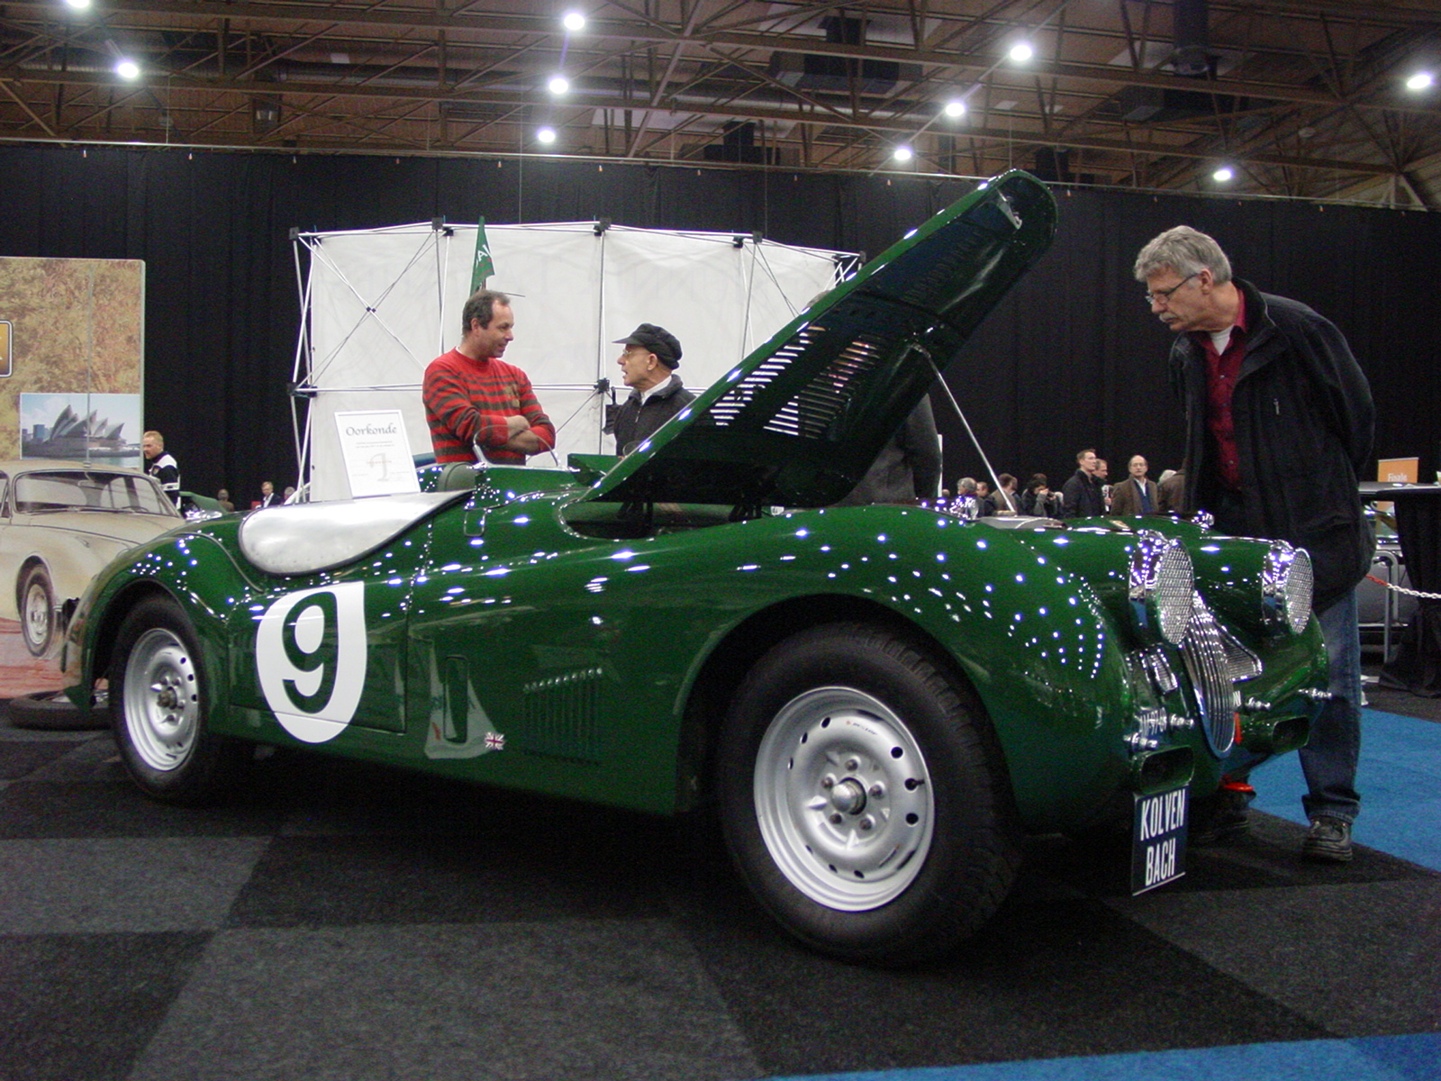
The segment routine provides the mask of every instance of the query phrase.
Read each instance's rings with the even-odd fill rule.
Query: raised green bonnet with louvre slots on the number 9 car
[[[1050,244],[1056,206],[1006,173],[827,293],[599,477],[591,500],[817,507],[865,476]]]

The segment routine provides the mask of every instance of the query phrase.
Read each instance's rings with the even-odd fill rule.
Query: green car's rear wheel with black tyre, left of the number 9
[[[208,803],[233,781],[245,745],[206,728],[209,683],[190,620],[169,598],[137,604],[120,626],[110,713],[131,778],[167,803]]]

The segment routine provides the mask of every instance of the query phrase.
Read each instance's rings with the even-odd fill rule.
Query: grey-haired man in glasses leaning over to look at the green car
[[[1301,748],[1311,823],[1301,853],[1349,860],[1360,810],[1356,585],[1375,549],[1357,489],[1375,428],[1370,385],[1334,324],[1232,278],[1221,245],[1203,232],[1167,229],[1141,249],[1134,272],[1151,314],[1176,333],[1170,379],[1186,404],[1185,509],[1209,510],[1223,533],[1287,540],[1311,555],[1331,700]],[[1246,775],[1255,762],[1232,754],[1209,809],[1213,836],[1244,830],[1254,796]]]

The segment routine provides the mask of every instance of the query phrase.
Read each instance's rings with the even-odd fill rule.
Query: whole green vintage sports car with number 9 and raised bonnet
[[[1053,228],[1033,177],[980,186],[625,458],[176,529],[81,601],[69,695],[108,682],[161,800],[280,744],[713,807],[759,902],[852,960],[971,934],[1027,832],[1128,822],[1134,889],[1166,882],[1223,757],[1298,747],[1324,698],[1306,553],[831,506]]]

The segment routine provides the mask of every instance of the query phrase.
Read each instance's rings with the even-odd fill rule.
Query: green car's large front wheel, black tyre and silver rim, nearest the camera
[[[749,672],[716,787],[731,853],[797,938],[853,961],[942,956],[1004,899],[1014,798],[970,689],[905,639],[801,631]]]

